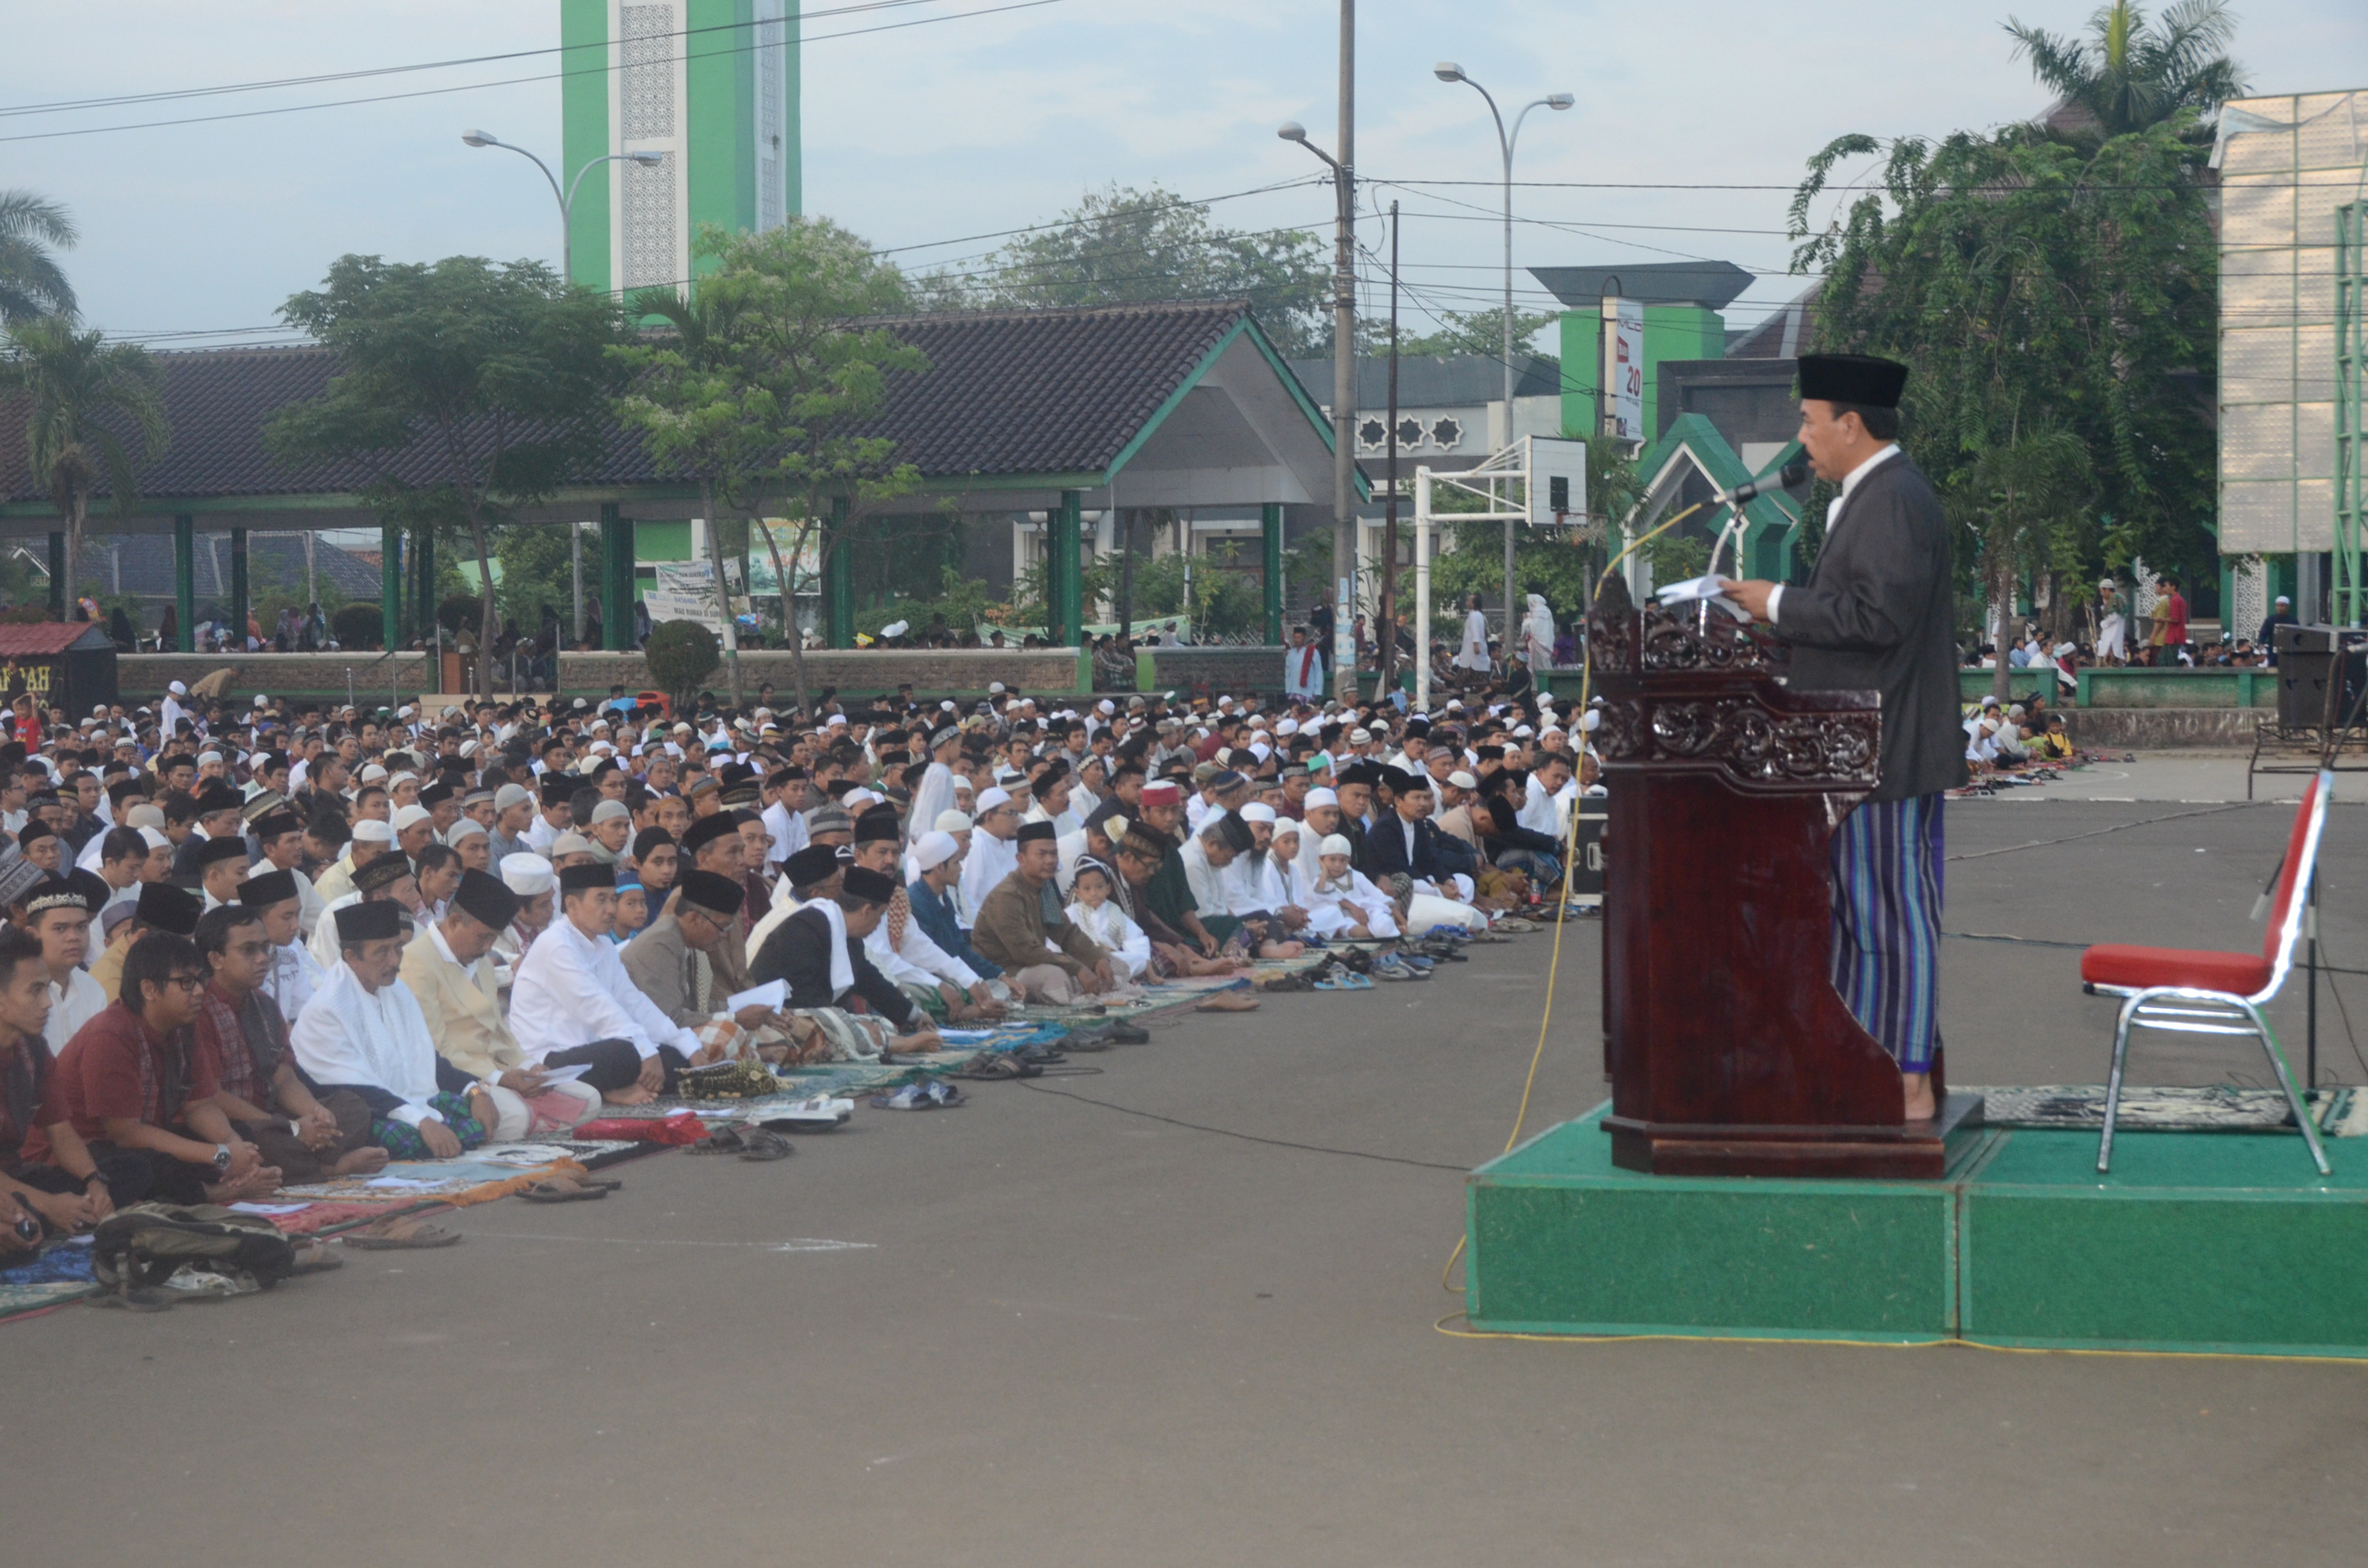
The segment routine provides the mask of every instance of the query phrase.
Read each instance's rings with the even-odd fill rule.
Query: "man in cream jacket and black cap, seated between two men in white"
[[[403,983],[436,1040],[436,1082],[483,1090],[493,1142],[568,1132],[599,1116],[599,1090],[583,1068],[540,1068],[519,1049],[493,978],[493,938],[519,917],[519,895],[500,876],[462,872],[445,917],[403,950]]]

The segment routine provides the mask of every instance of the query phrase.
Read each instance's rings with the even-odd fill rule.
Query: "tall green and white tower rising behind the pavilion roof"
[[[800,211],[798,12],[784,0],[561,0],[566,168],[604,154],[571,218],[575,282],[691,277],[699,225],[762,232]]]

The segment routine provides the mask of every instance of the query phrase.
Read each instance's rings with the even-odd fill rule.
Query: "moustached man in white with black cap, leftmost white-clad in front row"
[[[436,1042],[403,983],[403,905],[346,905],[334,917],[343,962],[313,992],[289,1049],[327,1097],[360,1094],[369,1137],[398,1161],[448,1161],[485,1142],[493,1101],[436,1087]]]

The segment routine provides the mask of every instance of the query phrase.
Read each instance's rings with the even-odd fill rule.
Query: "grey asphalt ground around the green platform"
[[[1946,943],[1951,1075],[2096,1082],[2077,943],[2257,940],[2287,810],[1951,805],[1946,928],[2025,938]],[[2363,876],[2340,805],[2359,1026]],[[258,1298],[0,1326],[7,1561],[2361,1559],[2363,1364],[1435,1334],[1549,947],[1191,1016],[777,1165],[658,1153]],[[1596,947],[1572,926],[1532,1130],[1601,1099]],[[2368,1078],[2325,1007],[2323,1063]]]

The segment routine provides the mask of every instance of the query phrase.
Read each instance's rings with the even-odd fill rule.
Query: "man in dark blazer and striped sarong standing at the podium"
[[[1724,580],[1793,647],[1795,692],[1880,692],[1878,784],[1833,834],[1833,988],[1899,1061],[1906,1120],[1935,1113],[1942,796],[1965,782],[1949,528],[1899,450],[1909,367],[1800,358],[1800,443],[1842,495],[1807,583]]]

